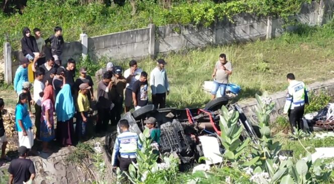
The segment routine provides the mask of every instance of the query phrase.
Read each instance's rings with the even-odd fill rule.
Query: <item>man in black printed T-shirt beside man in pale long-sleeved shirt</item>
[[[148,104],[147,87],[147,73],[143,71],[140,73],[139,80],[132,87],[132,100],[135,110]]]

